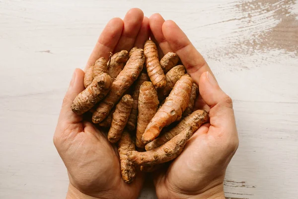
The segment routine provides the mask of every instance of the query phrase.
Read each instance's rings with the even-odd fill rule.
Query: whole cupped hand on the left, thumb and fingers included
[[[111,19],[102,31],[87,62],[89,67],[109,52],[144,47],[149,38],[149,19],[137,8],[129,10],[122,20]],[[84,90],[84,72],[74,71],[54,135],[54,144],[68,170],[70,186],[67,198],[137,198],[143,184],[137,174],[130,185],[121,177],[117,148],[110,144],[97,126],[76,115],[71,104]]]

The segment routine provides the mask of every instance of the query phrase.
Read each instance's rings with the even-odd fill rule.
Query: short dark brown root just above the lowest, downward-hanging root
[[[112,143],[118,142],[122,131],[127,123],[128,117],[132,111],[133,98],[125,95],[116,105],[115,112],[112,115],[111,127],[108,133],[108,140]]]

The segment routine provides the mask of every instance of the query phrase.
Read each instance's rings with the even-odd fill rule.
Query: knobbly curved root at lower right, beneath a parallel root
[[[188,126],[170,141],[150,151],[129,151],[127,152],[128,159],[131,162],[142,166],[152,166],[171,161],[180,155],[187,140],[196,130],[197,128]]]

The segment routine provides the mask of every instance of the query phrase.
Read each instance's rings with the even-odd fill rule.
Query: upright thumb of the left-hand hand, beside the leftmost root
[[[84,72],[80,69],[75,69],[69,89],[63,99],[58,124],[64,126],[65,124],[75,124],[82,120],[82,116],[79,116],[72,111],[71,105],[74,98],[85,89],[83,79]]]

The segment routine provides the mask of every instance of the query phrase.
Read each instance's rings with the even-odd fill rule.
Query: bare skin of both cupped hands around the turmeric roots
[[[134,37],[135,29],[127,29],[125,23],[135,21],[133,26],[141,27],[143,12],[136,8],[129,12],[133,12],[126,16],[131,16],[129,20],[114,18],[108,23],[87,66],[100,57],[108,59],[109,52],[114,52],[117,46],[123,27],[126,27],[126,35]],[[164,21],[160,14],[153,14],[149,24],[152,39],[161,50],[159,57],[170,51],[178,54],[193,81],[200,86],[201,97],[196,100],[195,108],[203,108],[210,114],[210,124],[201,126],[194,133],[180,156],[169,167],[154,173],[157,197],[224,199],[225,170],[238,147],[232,100],[221,90],[202,55],[173,21]],[[142,28],[139,29],[140,35],[136,34],[134,41],[128,40],[130,46],[135,46],[135,41],[144,36]],[[83,76],[81,70],[75,70],[54,135],[54,144],[69,172],[67,199],[137,198],[142,177],[137,175],[134,182],[127,185],[121,177],[117,149],[104,133],[91,123],[83,122],[82,117],[70,108],[76,95],[84,89]]]

